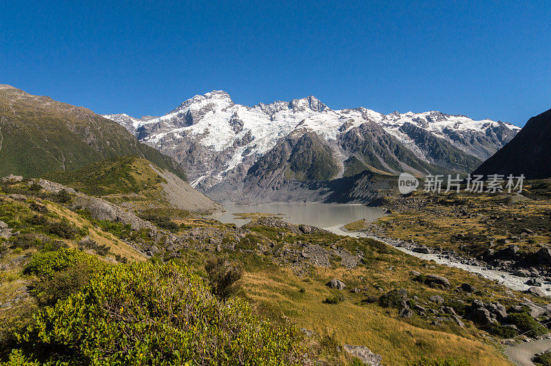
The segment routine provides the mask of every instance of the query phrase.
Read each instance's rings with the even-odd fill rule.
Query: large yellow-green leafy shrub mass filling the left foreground
[[[13,358],[71,365],[288,365],[300,332],[271,325],[241,299],[220,302],[175,263],[94,270],[85,288],[46,307]]]

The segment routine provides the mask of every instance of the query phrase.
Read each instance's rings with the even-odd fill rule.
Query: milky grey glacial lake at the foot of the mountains
[[[291,224],[306,224],[340,233],[340,226],[359,219],[373,221],[385,215],[381,208],[362,204],[321,204],[314,202],[270,203],[224,206],[225,213],[210,215],[224,223],[242,226],[250,219],[239,219],[236,213],[270,213]]]

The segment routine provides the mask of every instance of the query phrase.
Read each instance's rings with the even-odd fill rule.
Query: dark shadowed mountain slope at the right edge
[[[527,178],[551,177],[551,109],[530,118],[521,131],[474,174],[503,174]]]

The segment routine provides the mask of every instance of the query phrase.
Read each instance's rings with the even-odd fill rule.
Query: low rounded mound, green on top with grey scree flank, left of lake
[[[77,171],[52,172],[44,177],[87,195],[107,196],[107,200],[126,206],[134,204],[141,210],[170,207],[205,212],[221,208],[176,174],[136,156],[110,158]]]

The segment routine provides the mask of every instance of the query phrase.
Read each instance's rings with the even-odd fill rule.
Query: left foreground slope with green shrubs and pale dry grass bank
[[[164,243],[167,232],[72,211],[78,195],[44,191],[36,182],[0,181],[0,362],[298,360],[302,334],[295,327],[260,319],[243,299],[218,299],[185,266],[143,262],[132,248],[157,234]]]

